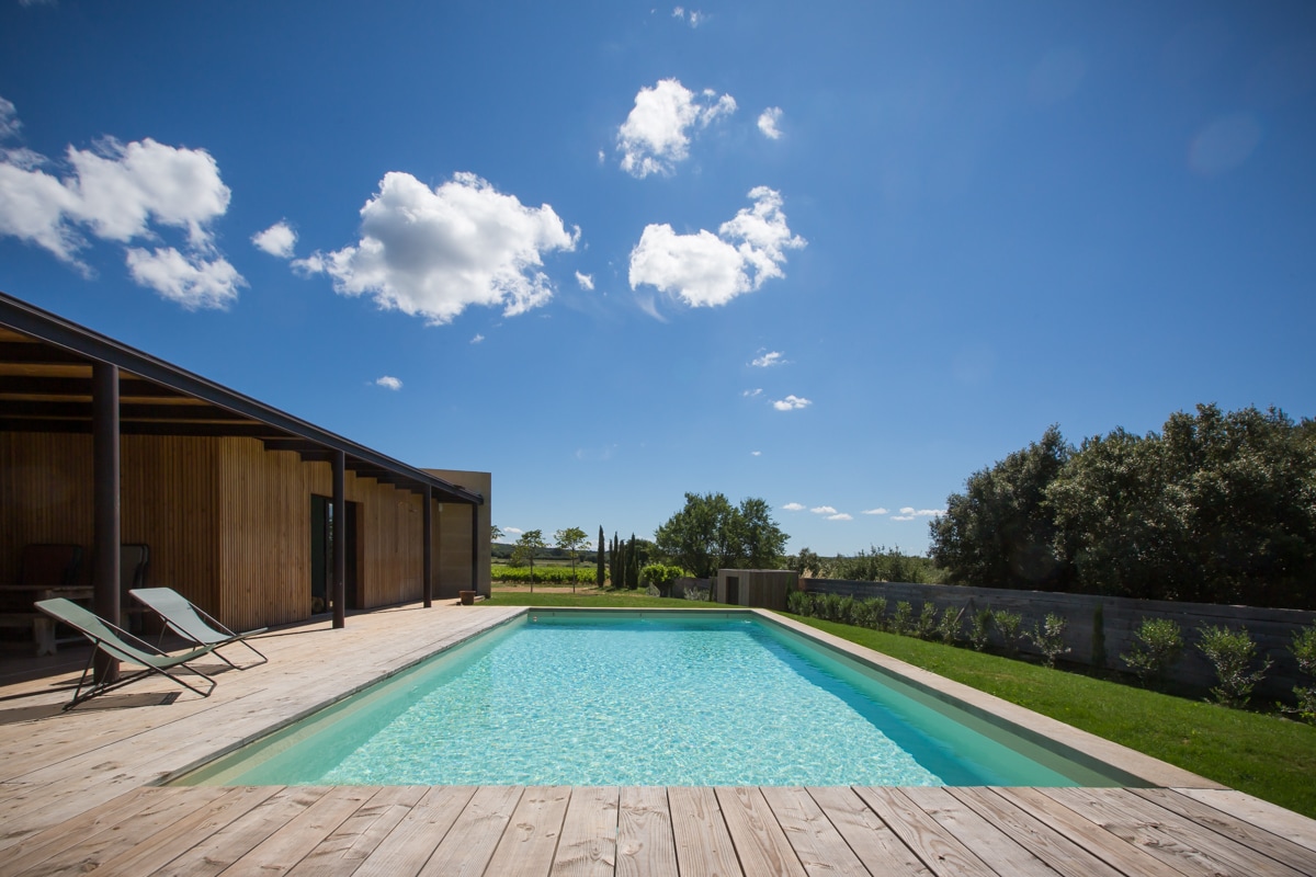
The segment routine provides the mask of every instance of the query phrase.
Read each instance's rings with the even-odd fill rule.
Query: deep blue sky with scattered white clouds
[[[0,289],[511,535],[1316,413],[1307,3],[0,0]]]

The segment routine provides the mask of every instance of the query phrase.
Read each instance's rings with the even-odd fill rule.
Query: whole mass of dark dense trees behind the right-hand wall
[[[1041,440],[930,523],[949,581],[1316,609],[1316,422],[1198,405],[1159,433]]]

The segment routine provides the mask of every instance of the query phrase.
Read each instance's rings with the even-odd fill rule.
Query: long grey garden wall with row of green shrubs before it
[[[801,579],[787,607],[1042,663],[1129,673],[1149,686],[1236,705],[1245,689],[1244,703],[1296,703],[1295,714],[1311,714],[1311,699],[1305,710],[1300,706],[1302,693],[1316,690],[1316,657],[1300,663],[1304,643],[1316,651],[1316,634],[1303,639],[1316,627],[1316,611],[834,579]]]

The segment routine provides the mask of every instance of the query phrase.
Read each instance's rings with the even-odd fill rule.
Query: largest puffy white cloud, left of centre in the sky
[[[370,293],[383,309],[451,322],[470,305],[501,306],[513,317],[553,297],[540,271],[544,254],[574,250],[547,204],[522,205],[474,174],[436,189],[409,174],[390,172],[361,208],[361,241],[293,262],[325,272],[345,296]]]

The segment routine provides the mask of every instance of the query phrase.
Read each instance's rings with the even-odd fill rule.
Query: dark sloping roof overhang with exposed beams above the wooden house
[[[440,502],[484,497],[0,292],[0,431],[92,430],[92,368],[120,369],[124,435],[246,437]]]

